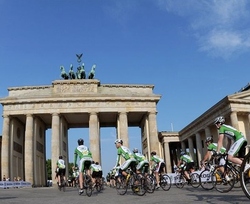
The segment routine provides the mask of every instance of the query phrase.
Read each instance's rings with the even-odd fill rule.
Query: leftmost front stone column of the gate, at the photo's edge
[[[1,153],[1,168],[2,176],[10,175],[10,118],[8,115],[3,115],[3,132],[2,132],[2,153]]]

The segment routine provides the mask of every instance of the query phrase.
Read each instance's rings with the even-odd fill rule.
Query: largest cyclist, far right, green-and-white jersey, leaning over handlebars
[[[227,147],[226,150],[228,152],[228,160],[241,165],[242,160],[240,158],[244,158],[245,156],[245,147],[247,145],[247,140],[245,136],[230,125],[225,124],[225,118],[223,116],[219,116],[214,120],[214,124],[216,125],[219,136],[218,136],[218,145],[216,152],[218,153],[222,147],[223,140],[227,138]],[[238,157],[236,156],[238,154]],[[250,164],[246,164],[244,172],[250,168]]]

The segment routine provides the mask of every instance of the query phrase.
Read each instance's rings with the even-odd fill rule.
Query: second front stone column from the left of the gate
[[[25,140],[24,140],[24,166],[25,181],[34,185],[34,138],[33,115],[26,116]]]

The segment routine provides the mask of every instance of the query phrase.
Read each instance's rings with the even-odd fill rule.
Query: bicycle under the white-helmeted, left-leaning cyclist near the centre
[[[116,179],[116,190],[118,194],[125,195],[127,190],[131,188],[136,195],[145,195],[147,192],[145,178],[136,173],[134,164],[127,169],[127,174],[128,176],[126,178],[124,175],[119,175]]]

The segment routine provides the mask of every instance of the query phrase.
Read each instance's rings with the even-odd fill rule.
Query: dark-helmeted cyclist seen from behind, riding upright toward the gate
[[[92,163],[92,154],[89,151],[89,148],[84,146],[84,140],[82,138],[78,139],[78,147],[75,149],[75,157],[74,157],[74,167],[76,167],[76,161],[79,156],[79,195],[83,193],[83,172],[86,169],[86,173],[90,175],[90,165]]]

